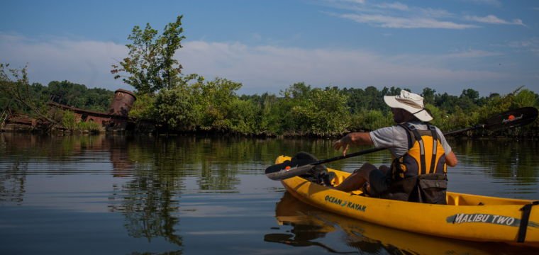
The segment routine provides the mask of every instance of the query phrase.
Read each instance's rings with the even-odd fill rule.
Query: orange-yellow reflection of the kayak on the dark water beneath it
[[[285,233],[270,233],[265,242],[291,246],[321,246],[331,253],[345,254],[530,254],[539,249],[508,244],[477,243],[443,239],[405,232],[353,220],[301,203],[284,193],[275,207],[279,225],[289,226]],[[327,236],[333,234],[336,239]]]

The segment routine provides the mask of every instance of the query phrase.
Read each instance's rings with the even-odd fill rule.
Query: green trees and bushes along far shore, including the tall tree
[[[297,82],[278,95],[268,92],[238,95],[242,86],[238,82],[225,78],[206,81],[199,74],[182,74],[182,65],[174,58],[184,39],[181,21],[182,16],[178,16],[174,23],[165,26],[161,35],[149,23],[144,29],[135,26],[128,36],[132,41],[126,45],[128,56],[112,65],[114,79],[121,79],[136,90],[136,101],[129,111],[134,132],[338,137],[347,132],[393,125],[391,110],[383,97],[399,94],[401,88],[395,86],[381,90],[375,86],[313,88]],[[10,69],[9,64],[0,64],[0,111],[10,108],[11,112],[47,120],[45,132],[103,131],[98,123],[80,121],[67,109],[50,111],[48,102],[51,96],[57,96],[58,103],[104,112],[113,91],[88,89],[84,84],[70,81],[51,81],[48,86],[29,84],[26,68]],[[510,94],[483,97],[474,89],[465,89],[460,96],[436,93],[428,87],[413,92],[423,96],[434,118],[431,123],[445,131],[467,128],[512,108],[539,108],[539,95],[523,86]],[[539,137],[539,121],[501,132],[475,130],[461,134],[494,135]]]

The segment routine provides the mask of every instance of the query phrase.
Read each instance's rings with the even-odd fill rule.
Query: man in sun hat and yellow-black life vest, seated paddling
[[[445,203],[446,169],[457,165],[457,157],[443,133],[428,123],[433,118],[423,105],[423,97],[403,90],[398,96],[384,96],[384,101],[391,107],[397,125],[372,132],[352,132],[333,147],[343,148],[343,154],[350,145],[388,148],[393,159],[391,166],[377,168],[366,163],[335,189],[349,192],[363,188],[367,195],[379,198]],[[443,194],[437,193],[441,190]],[[418,192],[414,195],[413,191]],[[423,199],[419,193],[423,193]]]

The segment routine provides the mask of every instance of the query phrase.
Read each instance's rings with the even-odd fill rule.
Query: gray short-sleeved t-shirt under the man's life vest
[[[427,125],[421,122],[411,122],[411,125],[415,126],[418,130],[427,130]],[[436,128],[436,132],[438,132],[438,138],[442,142],[442,147],[447,156],[451,152],[451,147],[438,128]],[[394,125],[387,128],[379,128],[369,132],[369,135],[372,142],[374,142],[374,147],[389,148],[391,155],[398,158],[408,152],[408,136],[406,133],[407,131],[404,128]]]

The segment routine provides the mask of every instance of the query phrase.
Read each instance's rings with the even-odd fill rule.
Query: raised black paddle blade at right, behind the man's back
[[[537,118],[538,110],[535,107],[523,107],[494,115],[484,123],[484,128],[501,130],[505,128],[520,127],[533,123]]]

